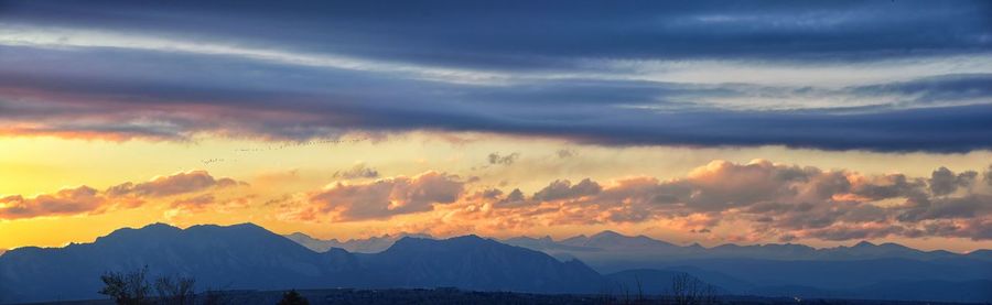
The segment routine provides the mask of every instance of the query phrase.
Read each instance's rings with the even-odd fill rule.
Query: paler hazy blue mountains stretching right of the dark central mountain
[[[953,253],[923,251],[897,243],[861,241],[851,247],[817,249],[804,244],[700,244],[677,246],[646,236],[624,236],[603,231],[554,240],[550,237],[515,237],[499,240],[544,252],[560,260],[576,259],[606,275],[669,279],[671,272],[687,272],[726,293],[807,297],[893,297],[893,291],[929,292],[932,299],[992,299],[986,286],[992,280],[992,251]],[[360,243],[360,240],[353,241]],[[643,274],[645,272],[662,274]],[[614,277],[616,282],[617,277]],[[641,279],[643,280],[643,279]],[[633,285],[627,281],[627,286]],[[960,285],[962,291],[938,293],[932,285]],[[654,287],[667,287],[662,281]],[[877,294],[873,294],[876,291]],[[888,293],[886,293],[886,291]],[[947,290],[945,290],[947,291]],[[967,296],[972,295],[972,296]],[[978,296],[977,296],[978,295]],[[983,297],[979,297],[983,295]],[[926,299],[926,298],[925,298]]]

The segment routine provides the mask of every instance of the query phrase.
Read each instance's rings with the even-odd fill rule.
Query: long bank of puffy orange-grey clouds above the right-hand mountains
[[[970,171],[948,172],[938,168],[937,178],[897,173],[865,175],[765,160],[718,160],[668,181],[623,177],[572,184],[557,179],[529,198],[519,188],[509,193],[495,188],[466,192],[444,205],[419,209],[418,218],[405,221],[438,221],[431,226],[439,230],[490,231],[664,224],[678,231],[735,241],[894,237],[988,240],[992,188],[971,185],[948,193],[941,188],[947,177],[972,179]],[[376,209],[370,215],[398,215],[382,208],[388,200],[365,200],[375,201],[381,204],[371,205]],[[344,210],[357,205],[354,199],[344,203],[349,203]],[[729,228],[737,233],[727,235]]]

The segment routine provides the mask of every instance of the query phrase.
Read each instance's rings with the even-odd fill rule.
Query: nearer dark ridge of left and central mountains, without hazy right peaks
[[[521,292],[593,292],[602,277],[578,261],[560,262],[478,237],[403,238],[381,253],[314,252],[255,225],[166,225],[121,229],[93,243],[21,248],[0,257],[0,303],[99,298],[99,275],[148,266],[185,274],[197,286],[316,288],[452,286]]]

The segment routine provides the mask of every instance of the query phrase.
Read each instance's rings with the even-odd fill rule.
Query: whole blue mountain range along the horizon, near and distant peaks
[[[151,274],[194,276],[201,290],[457,287],[659,294],[684,273],[721,294],[986,302],[992,301],[990,253],[867,242],[830,249],[681,247],[612,231],[558,241],[402,235],[339,242],[302,233],[279,236],[251,224],[187,229],[157,224],[120,229],[93,243],[0,254],[0,303],[99,298],[100,274],[142,266]]]

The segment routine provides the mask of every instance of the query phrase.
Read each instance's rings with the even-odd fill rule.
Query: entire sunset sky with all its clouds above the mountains
[[[988,1],[0,0],[0,249],[992,248]]]

